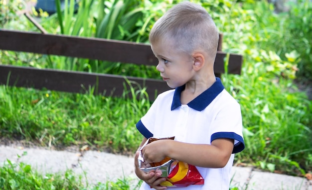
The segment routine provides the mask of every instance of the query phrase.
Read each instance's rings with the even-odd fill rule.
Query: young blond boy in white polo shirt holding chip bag
[[[245,147],[240,105],[224,89],[213,71],[219,34],[207,11],[194,3],[178,3],[159,18],[150,32],[156,69],[174,90],[156,98],[137,123],[144,135],[136,153],[140,190],[170,189],[159,171],[145,173],[138,166],[140,148],[149,137],[154,141],[142,150],[148,163],[170,157],[196,166],[204,185],[183,190],[229,190],[234,153]],[[178,188],[174,188],[177,190]]]

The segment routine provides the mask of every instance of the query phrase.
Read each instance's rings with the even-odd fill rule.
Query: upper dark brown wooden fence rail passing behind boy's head
[[[157,59],[148,44],[101,38],[0,30],[0,49],[140,65],[157,65]],[[215,73],[224,73],[225,57],[226,53],[218,51]],[[241,55],[230,54],[228,73],[240,74],[241,63]]]

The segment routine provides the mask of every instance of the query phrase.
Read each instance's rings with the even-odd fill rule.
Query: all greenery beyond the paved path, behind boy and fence
[[[37,31],[25,9],[51,34],[148,42],[155,21],[181,0],[65,0],[47,14],[31,0],[0,0],[0,27]],[[241,104],[246,149],[235,164],[304,176],[312,171],[312,2],[276,11],[266,0],[193,0],[211,14],[223,51],[243,55],[241,75],[222,75]],[[78,9],[75,9],[78,3]],[[27,8],[28,7],[28,8]],[[155,67],[0,51],[0,64],[159,78]],[[133,154],[142,136],[136,122],[152,102],[0,86],[0,137],[43,146],[88,145]],[[310,92],[310,94],[309,94]]]

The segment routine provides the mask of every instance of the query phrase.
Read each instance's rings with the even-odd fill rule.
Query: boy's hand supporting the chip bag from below
[[[138,178],[146,182],[149,186],[156,190],[166,190],[166,187],[159,186],[161,182],[164,182],[165,178],[160,178],[161,171],[151,171],[149,173],[143,172],[139,167],[139,151],[136,152],[135,156],[135,172]]]

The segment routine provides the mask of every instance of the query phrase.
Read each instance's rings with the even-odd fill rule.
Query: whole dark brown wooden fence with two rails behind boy
[[[65,35],[41,34],[0,29],[0,50],[49,54],[66,57],[105,60],[111,62],[133,63],[138,65],[157,65],[150,45],[101,38],[83,38]],[[220,35],[218,52],[214,64],[217,76],[224,73],[222,52],[222,35]],[[242,56],[229,55],[228,73],[240,74]],[[129,81],[147,88],[151,100],[169,89],[162,80],[145,79],[127,76]],[[36,69],[32,67],[17,67],[1,65],[0,85],[47,89],[70,93],[84,93],[89,87],[94,87],[96,93],[120,96],[125,91],[124,76],[96,74],[87,72],[60,71],[52,69]]]

